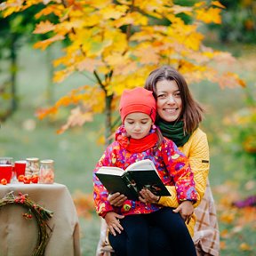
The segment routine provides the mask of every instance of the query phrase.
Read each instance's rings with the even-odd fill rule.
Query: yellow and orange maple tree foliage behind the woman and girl
[[[63,55],[53,61],[58,68],[53,81],[61,83],[75,72],[93,80],[39,113],[43,118],[72,106],[60,132],[105,111],[108,138],[111,113],[124,88],[143,86],[149,72],[163,64],[178,68],[188,83],[205,79],[221,87],[244,86],[236,74],[218,69],[235,59],[228,52],[206,47],[199,32],[204,23],[221,23],[224,6],[219,1],[180,6],[170,0],[7,0],[1,8],[7,17],[35,4],[44,7],[36,14],[41,21],[34,33],[47,36],[35,48],[44,50],[64,39],[68,42]]]

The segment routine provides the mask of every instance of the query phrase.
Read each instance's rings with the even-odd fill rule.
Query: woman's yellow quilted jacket
[[[194,179],[196,182],[196,191],[198,193],[198,200],[194,207],[200,204],[205,188],[206,180],[210,168],[210,156],[209,156],[209,146],[206,134],[197,128],[195,132],[192,133],[188,142],[180,147],[180,151],[183,152],[189,159],[189,164],[192,172],[194,172]],[[169,207],[178,207],[179,203],[177,201],[176,189],[174,186],[167,186],[172,196],[162,196],[158,204]],[[187,225],[189,234],[194,236],[194,227],[196,224],[196,215],[194,213],[193,218]]]

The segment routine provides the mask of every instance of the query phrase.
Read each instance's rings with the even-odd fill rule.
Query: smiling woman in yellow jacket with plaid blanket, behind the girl
[[[207,137],[198,127],[202,121],[203,108],[193,99],[183,76],[169,66],[152,71],[145,88],[154,92],[158,119],[156,125],[164,137],[173,140],[180,151],[188,156],[194,172],[196,191],[201,203],[196,207],[196,225],[193,240],[198,255],[219,255],[220,234],[216,210],[209,185],[209,148]],[[175,188],[170,188],[175,195]],[[169,197],[169,196],[168,196]],[[199,199],[200,200],[200,199]],[[177,207],[175,196],[161,198],[159,204]],[[176,209],[177,212],[180,208]],[[180,212],[182,215],[182,212]],[[193,221],[188,229],[191,234]]]

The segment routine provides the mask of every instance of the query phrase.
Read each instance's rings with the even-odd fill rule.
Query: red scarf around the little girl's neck
[[[155,127],[150,130],[146,137],[139,140],[128,137],[124,125],[121,125],[116,131],[116,141],[131,153],[140,153],[149,148],[154,148],[157,140],[158,136]]]

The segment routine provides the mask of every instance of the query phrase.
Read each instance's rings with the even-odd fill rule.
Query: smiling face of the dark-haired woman
[[[172,81],[159,81],[156,83],[157,114],[166,122],[178,119],[182,110],[180,91],[177,83]]]

